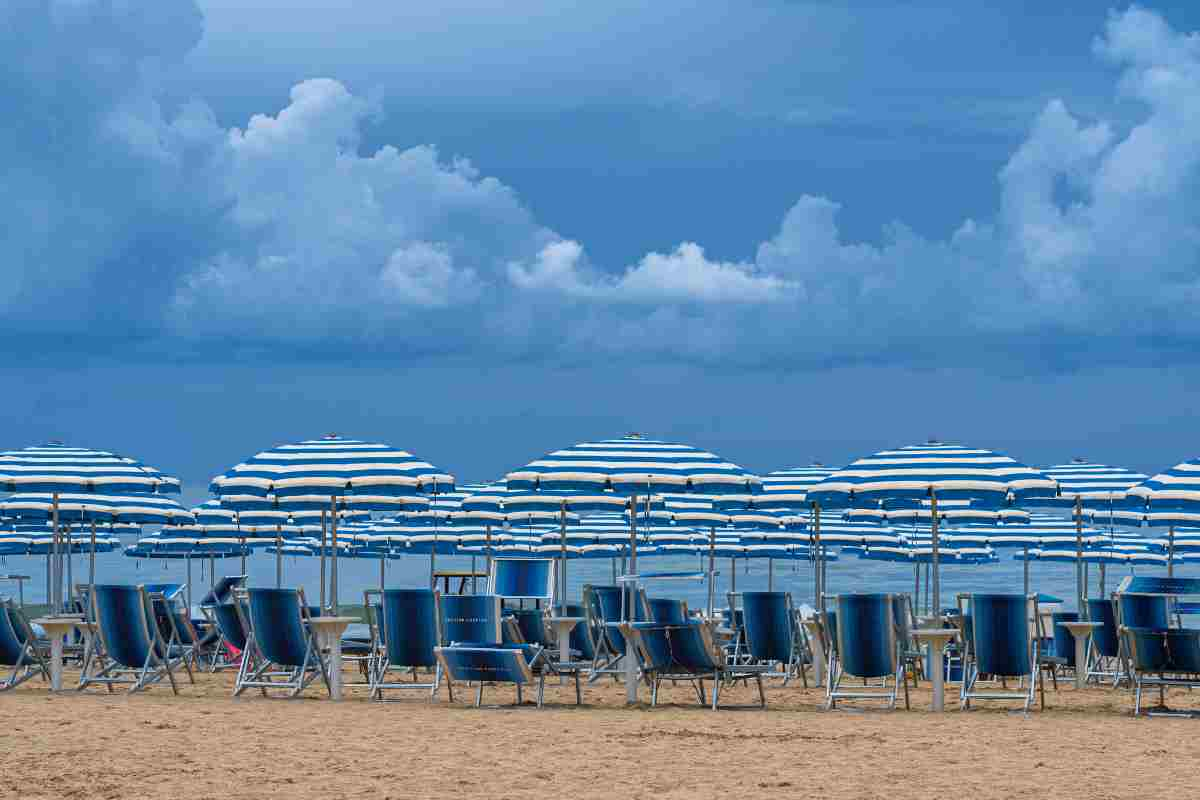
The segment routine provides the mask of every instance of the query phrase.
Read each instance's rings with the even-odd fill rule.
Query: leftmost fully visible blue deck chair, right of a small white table
[[[181,663],[188,675],[191,667],[179,644],[164,638],[155,622],[152,603],[158,597],[144,585],[96,585],[91,602],[98,645],[84,658],[80,690],[101,684],[112,691],[114,685],[128,684],[132,693],[166,676],[170,691],[179,693],[173,667]]]

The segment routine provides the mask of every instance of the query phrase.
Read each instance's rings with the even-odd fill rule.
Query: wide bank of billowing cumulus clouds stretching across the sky
[[[20,198],[0,223],[10,333],[776,365],[1027,357],[1051,335],[1136,357],[1200,336],[1200,40],[1147,10],[1093,42],[1140,120],[1051,101],[990,218],[863,243],[834,200],[798,192],[743,259],[685,241],[629,265],[593,263],[466,158],[365,152],[380,109],[337,80],[232,128],[200,101],[164,107],[151,78],[198,42],[194,0],[19,0],[0,23],[22,112],[0,128]]]

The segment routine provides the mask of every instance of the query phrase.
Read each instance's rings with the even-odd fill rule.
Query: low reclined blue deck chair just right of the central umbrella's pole
[[[731,664],[713,638],[713,630],[701,621],[686,625],[660,622],[624,622],[622,633],[634,645],[642,676],[650,686],[650,705],[659,702],[659,686],[664,680],[686,680],[696,688],[701,705],[706,704],[704,680],[713,681],[710,708],[720,708],[721,685],[727,681],[754,678],[758,685],[758,706],[767,708],[762,675],[769,667]]]

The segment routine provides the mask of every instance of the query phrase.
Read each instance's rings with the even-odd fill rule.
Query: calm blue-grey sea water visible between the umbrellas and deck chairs
[[[954,594],[959,591],[1021,591],[1022,564],[1012,560],[1010,551],[1001,551],[998,564],[989,565],[943,565],[942,601],[953,604]],[[86,581],[86,555],[73,557],[74,581]],[[158,583],[187,582],[187,564],[184,560],[134,560],[120,553],[107,553],[96,557],[97,581],[108,583]],[[427,555],[385,561],[385,581],[390,588],[427,585],[430,561]],[[470,559],[463,557],[439,555],[439,569],[467,569]],[[482,558],[479,559],[482,569]],[[251,585],[275,585],[275,557],[257,553],[247,559]],[[686,557],[655,557],[641,563],[642,570],[696,570],[700,559]],[[718,597],[724,599],[731,589],[731,569],[728,560],[719,560],[720,576],[716,578]],[[1165,573],[1165,570],[1150,566],[1135,567],[1140,575]],[[238,559],[218,560],[216,573],[236,575],[240,570]],[[43,602],[46,597],[46,558],[6,557],[0,559],[0,576],[7,573],[32,576],[25,584],[26,602]],[[743,560],[736,567],[738,590],[767,589],[767,561]],[[1200,566],[1195,564],[1176,565],[1178,576],[1200,577]],[[829,593],[840,591],[908,591],[913,590],[913,567],[880,561],[860,560],[847,555],[828,566]],[[1031,564],[1031,585],[1034,591],[1056,595],[1073,606],[1075,567],[1072,564]],[[1091,596],[1098,594],[1098,567],[1092,566],[1090,575]],[[1128,567],[1109,567],[1108,589],[1111,591],[1120,579],[1129,575]],[[310,599],[316,601],[319,591],[320,566],[318,559],[304,557],[284,557],[284,585],[302,585]],[[775,561],[774,587],[776,590],[792,593],[797,602],[814,604],[812,570],[806,561]],[[361,602],[361,591],[379,585],[379,561],[365,559],[341,559],[338,561],[340,595],[342,602]],[[922,578],[924,585],[924,578]],[[580,596],[584,583],[611,583],[612,567],[608,560],[576,560],[568,567],[568,584],[572,597]],[[193,600],[198,601],[210,583],[209,570],[202,567],[198,560],[192,561]],[[652,597],[679,597],[694,608],[702,608],[706,602],[706,584],[698,581],[652,582],[647,584]],[[923,588],[924,591],[924,588]],[[0,581],[0,595],[16,597],[17,585]],[[720,602],[724,604],[724,601]]]

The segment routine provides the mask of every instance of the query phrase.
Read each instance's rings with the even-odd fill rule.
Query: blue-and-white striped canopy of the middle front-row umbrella
[[[762,480],[690,445],[629,435],[584,441],[556,450],[508,474],[509,489],[604,492],[644,495],[660,492],[756,494]]]

